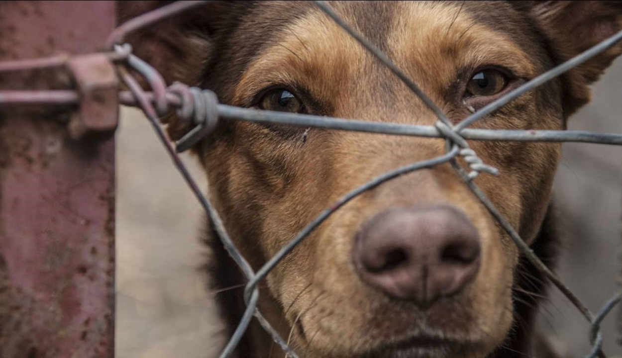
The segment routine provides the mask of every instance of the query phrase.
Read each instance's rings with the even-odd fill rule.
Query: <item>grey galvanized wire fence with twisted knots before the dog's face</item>
[[[450,163],[455,172],[462,177],[464,183],[479,198],[493,216],[496,221],[503,227],[514,244],[518,247],[521,255],[524,255],[529,262],[543,273],[557,287],[567,299],[577,308],[585,319],[590,323],[590,344],[592,348],[587,352],[585,357],[605,357],[601,351],[603,344],[603,336],[600,331],[600,323],[606,317],[612,308],[621,300],[622,292],[616,293],[605,305],[593,313],[586,305],[553,273],[547,268],[542,261],[532,252],[529,246],[519,236],[513,226],[498,211],[483,191],[473,182],[473,179],[486,173],[488,175],[498,175],[498,170],[483,163],[476,152],[470,148],[467,140],[505,140],[505,141],[525,141],[525,142],[590,142],[600,144],[622,145],[622,134],[603,134],[585,131],[509,131],[509,130],[488,130],[488,129],[471,129],[468,128],[476,121],[488,116],[498,110],[505,104],[513,101],[524,93],[531,91],[537,86],[552,80],[561,75],[565,71],[577,67],[586,62],[590,58],[604,52],[613,45],[618,44],[622,40],[622,32],[618,32],[612,37],[604,40],[598,45],[586,50],[580,55],[573,57],[552,68],[542,75],[533,78],[530,81],[514,89],[510,93],[484,106],[478,111],[473,112],[470,116],[463,119],[458,124],[452,124],[448,117],[439,109],[439,107],[425,94],[421,89],[374,44],[364,38],[351,25],[341,19],[338,14],[333,11],[325,1],[313,1],[315,6],[329,16],[337,25],[353,37],[359,44],[369,51],[379,62],[383,63],[386,68],[392,71],[412,93],[419,97],[425,106],[434,112],[437,121],[434,126],[418,126],[411,124],[396,124],[387,122],[368,122],[353,119],[341,119],[334,117],[320,117],[306,114],[290,114],[285,112],[259,111],[256,109],[238,108],[218,103],[216,95],[207,90],[189,87],[182,83],[174,83],[167,86],[162,76],[157,70],[148,63],[132,54],[132,48],[128,44],[123,44],[124,37],[130,32],[142,29],[154,22],[160,21],[170,16],[175,16],[183,11],[188,11],[197,6],[203,6],[211,1],[178,1],[173,4],[160,7],[155,11],[147,12],[138,16],[131,21],[119,26],[110,35],[106,41],[106,48],[110,52],[104,53],[108,60],[116,66],[119,77],[127,86],[129,91],[119,92],[119,103],[137,106],[144,111],[147,118],[152,124],[154,131],[167,150],[175,167],[179,170],[184,180],[187,182],[190,190],[197,197],[197,200],[205,209],[206,213],[213,223],[214,229],[220,238],[223,246],[231,255],[233,260],[241,268],[242,272],[248,279],[248,283],[244,288],[244,301],[247,308],[241,320],[238,323],[233,335],[230,337],[225,348],[221,352],[221,357],[229,357],[234,352],[238,342],[253,319],[257,319],[261,326],[271,334],[274,341],[289,357],[298,357],[298,355],[288,346],[285,340],[279,336],[276,329],[262,316],[258,310],[259,290],[258,283],[266,278],[271,270],[289,254],[300,242],[304,241],[309,234],[322,224],[329,216],[337,211],[341,206],[356,198],[356,196],[364,193],[364,191],[391,180],[404,173],[414,172],[422,168],[430,168],[442,163]],[[67,63],[68,57],[51,57],[40,58],[35,60],[20,60],[14,62],[0,62],[0,72],[27,70],[33,68],[51,68],[60,67]],[[139,73],[149,84],[150,91],[145,91],[139,81],[132,75],[131,71]],[[43,104],[78,104],[80,95],[77,91],[72,90],[50,90],[50,91],[0,91],[0,106],[6,104],[27,104],[27,103],[43,103]],[[192,122],[193,128],[180,139],[174,146],[162,126],[160,126],[159,117],[164,116],[170,109],[176,109],[177,116],[183,121]],[[302,231],[297,234],[288,244],[277,252],[276,255],[267,260],[257,272],[251,268],[248,261],[239,252],[233,244],[219,213],[206,196],[203,195],[198,188],[195,180],[188,172],[185,165],[180,160],[178,153],[190,149],[200,140],[209,134],[218,121],[251,121],[251,122],[270,122],[279,124],[290,124],[304,127],[318,127],[323,129],[333,129],[340,131],[358,131],[391,135],[410,135],[419,137],[439,137],[445,139],[445,154],[439,157],[424,160],[422,162],[412,163],[401,168],[384,173],[373,180],[368,181],[364,185],[353,189],[340,200],[334,203],[330,208],[325,209],[313,221],[311,221]],[[457,159],[462,157],[468,164],[468,170],[461,167]],[[622,321],[622,320],[621,320]],[[621,323],[622,324],[622,323]]]

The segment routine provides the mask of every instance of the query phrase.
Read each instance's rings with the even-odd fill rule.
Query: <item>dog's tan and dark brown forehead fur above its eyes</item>
[[[505,2],[335,1],[340,16],[378,45],[424,89],[448,88],[457,71],[499,65],[532,76],[546,63],[528,19]],[[348,96],[370,101],[400,87],[363,47],[310,2],[269,2],[240,32],[254,47],[234,103],[274,83],[304,85],[320,101]],[[266,26],[267,24],[270,26]],[[264,24],[262,27],[260,24]],[[265,29],[264,32],[258,29]],[[246,30],[245,30],[246,29]],[[473,70],[475,68],[471,68]],[[338,85],[338,86],[335,86]],[[378,86],[370,91],[369,86]],[[363,91],[363,88],[366,88]],[[434,94],[432,94],[434,96]],[[443,98],[435,98],[442,101]],[[330,111],[330,110],[329,110]]]

